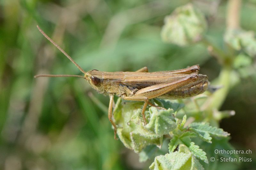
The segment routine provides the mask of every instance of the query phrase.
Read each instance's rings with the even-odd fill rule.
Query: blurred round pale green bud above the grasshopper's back
[[[198,42],[204,36],[207,24],[202,12],[192,4],[176,8],[164,18],[161,36],[165,42],[185,46]]]

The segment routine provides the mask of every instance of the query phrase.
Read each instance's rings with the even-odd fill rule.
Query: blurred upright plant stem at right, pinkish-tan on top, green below
[[[227,4],[227,30],[228,29],[237,29],[239,28],[239,14],[241,8],[241,0],[229,0]],[[208,113],[205,121],[210,121],[213,118],[213,111],[219,110],[225,101],[228,92],[230,90],[231,82],[231,71],[232,71],[232,58],[231,55],[226,55],[225,52],[219,48],[213,46],[210,41],[204,39],[204,44],[208,45],[209,52],[215,56],[218,62],[222,65],[220,70],[220,75],[218,77],[217,84],[223,85],[221,89],[212,94],[212,96],[205,102],[202,109],[205,109]],[[212,122],[215,125],[218,125],[219,120]]]

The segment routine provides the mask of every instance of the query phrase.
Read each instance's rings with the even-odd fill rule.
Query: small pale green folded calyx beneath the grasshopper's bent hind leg
[[[176,128],[172,109],[158,110],[156,107],[150,107],[149,113],[151,115],[150,122],[145,127],[155,132],[156,135],[162,136],[168,134]]]

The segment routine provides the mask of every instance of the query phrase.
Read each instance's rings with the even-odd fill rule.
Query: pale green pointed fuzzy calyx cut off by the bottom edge
[[[157,156],[149,166],[152,170],[204,169],[185,145],[179,151]]]

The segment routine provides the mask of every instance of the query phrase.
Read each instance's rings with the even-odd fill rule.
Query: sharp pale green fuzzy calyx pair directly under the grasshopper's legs
[[[127,148],[137,153],[150,144],[161,147],[163,135],[176,128],[173,109],[158,110],[156,107],[150,107],[145,112],[148,124],[144,126],[142,106],[143,102],[123,103],[119,98],[113,112],[118,137]]]

